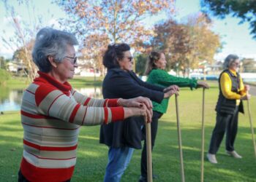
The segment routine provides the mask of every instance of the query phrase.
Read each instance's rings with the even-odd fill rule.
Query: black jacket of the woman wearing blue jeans
[[[158,103],[164,98],[164,87],[141,81],[134,72],[120,68],[108,70],[102,85],[104,98],[136,98],[143,96]],[[142,117],[130,117],[121,122],[103,124],[100,127],[99,143],[118,148],[129,146],[141,149]]]

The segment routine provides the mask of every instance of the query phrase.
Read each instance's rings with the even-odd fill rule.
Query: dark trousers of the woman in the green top
[[[151,122],[151,151],[153,151],[154,141],[157,137],[157,127],[158,127],[158,119],[162,116],[162,113],[157,111],[153,111],[153,117]],[[143,126],[142,133],[146,138],[146,127]],[[141,160],[140,160],[140,173],[143,177],[147,177],[147,146],[146,146],[146,139],[144,141],[143,150],[141,153]]]

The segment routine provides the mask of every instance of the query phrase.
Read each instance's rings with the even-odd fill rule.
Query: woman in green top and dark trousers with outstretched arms
[[[150,84],[160,85],[162,87],[169,87],[176,84],[178,87],[208,88],[206,82],[197,82],[196,79],[180,78],[171,76],[165,71],[166,60],[163,52],[151,52],[148,56],[148,63],[146,66],[146,74],[148,75],[147,82]],[[154,147],[154,141],[157,137],[158,119],[165,114],[168,106],[168,98],[162,100],[161,103],[153,101],[153,117],[151,122],[151,146]],[[145,127],[143,127],[145,133]],[[144,142],[143,151],[141,153],[140,162],[140,181],[147,181],[147,162],[146,162],[146,142]]]

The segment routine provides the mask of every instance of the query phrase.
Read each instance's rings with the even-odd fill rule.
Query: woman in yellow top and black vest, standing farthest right
[[[238,74],[239,58],[237,55],[228,55],[224,62],[224,71],[219,75],[219,99],[215,111],[217,122],[211,135],[211,143],[207,158],[209,162],[217,164],[215,155],[226,132],[226,152],[228,155],[241,159],[235,151],[234,142],[238,129],[238,112],[244,113],[241,100],[249,100],[249,85],[244,85]]]

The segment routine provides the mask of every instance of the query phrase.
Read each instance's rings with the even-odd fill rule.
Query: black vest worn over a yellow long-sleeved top
[[[222,73],[219,75],[219,99],[217,101],[217,106],[215,108],[215,111],[222,113],[222,114],[234,114],[234,111],[236,109],[236,99],[227,99],[222,94],[222,90],[220,87],[220,78],[222,77],[222,74],[227,73],[228,76],[230,76],[232,87],[231,91],[238,93],[238,89],[240,88],[240,75],[238,73],[237,76],[232,74],[228,69],[222,71]],[[244,106],[242,103],[242,100],[239,104],[238,111],[241,113],[244,113]]]

